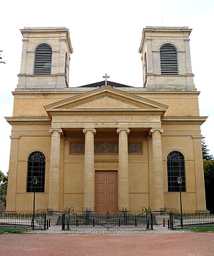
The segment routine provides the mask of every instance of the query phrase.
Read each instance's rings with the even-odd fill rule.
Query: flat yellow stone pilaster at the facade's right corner
[[[193,136],[194,158],[195,158],[195,186],[197,211],[206,210],[205,180],[203,173],[203,155],[201,149],[201,136]]]

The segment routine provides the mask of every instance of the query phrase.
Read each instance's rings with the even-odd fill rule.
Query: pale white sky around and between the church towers
[[[67,27],[74,53],[70,87],[104,80],[142,87],[138,53],[146,26],[188,26],[191,62],[199,95],[201,134],[214,155],[213,0],[46,0],[3,1],[0,13],[0,170],[9,170],[13,95],[20,72],[23,27]]]

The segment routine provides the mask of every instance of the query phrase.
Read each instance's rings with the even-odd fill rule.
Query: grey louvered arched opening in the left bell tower
[[[33,74],[51,74],[52,49],[48,44],[39,44],[35,49]]]

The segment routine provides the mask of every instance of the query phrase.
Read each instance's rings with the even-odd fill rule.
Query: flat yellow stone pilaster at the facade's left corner
[[[11,153],[9,157],[9,173],[7,186],[7,206],[6,212],[15,212],[16,205],[16,184],[17,184],[17,164],[19,152],[19,136],[11,136]]]

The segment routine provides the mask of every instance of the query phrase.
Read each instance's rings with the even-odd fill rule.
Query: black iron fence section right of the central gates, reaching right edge
[[[196,212],[182,214],[183,228],[214,226],[214,214]],[[171,229],[181,228],[181,214],[170,212],[169,222]]]

